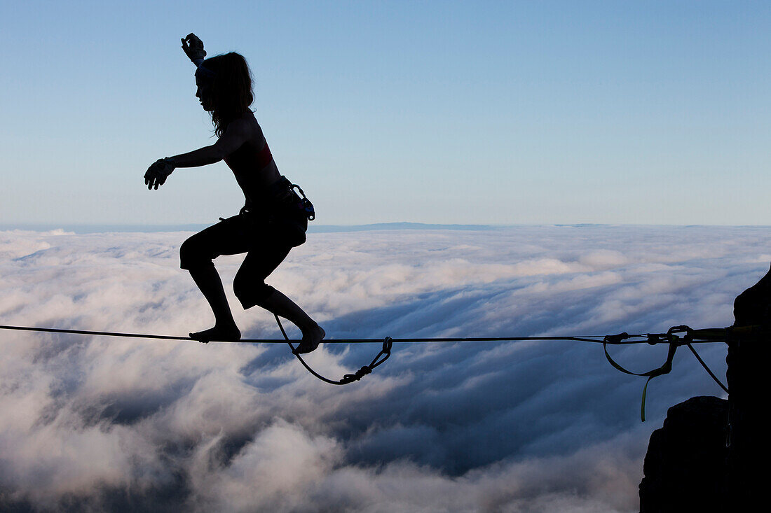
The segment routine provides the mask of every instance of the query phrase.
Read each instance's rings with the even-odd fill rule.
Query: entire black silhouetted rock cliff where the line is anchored
[[[669,408],[645,454],[642,513],[762,511],[768,501],[771,270],[733,307],[734,327],[751,330],[728,342],[729,400],[692,397]]]

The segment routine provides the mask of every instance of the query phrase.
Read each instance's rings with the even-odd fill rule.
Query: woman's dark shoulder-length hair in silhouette
[[[209,79],[209,94],[214,107],[210,115],[214,133],[219,137],[227,124],[244,114],[254,102],[251,72],[244,56],[236,52],[216,55],[204,60],[201,66],[214,72]]]

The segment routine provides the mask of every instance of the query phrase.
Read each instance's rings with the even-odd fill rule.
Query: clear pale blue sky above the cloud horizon
[[[180,37],[237,51],[318,223],[769,224],[765,2],[2,2],[0,224],[210,223]]]

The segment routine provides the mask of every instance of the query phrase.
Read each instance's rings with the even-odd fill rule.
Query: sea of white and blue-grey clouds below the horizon
[[[213,318],[178,268],[190,233],[0,232],[0,324],[184,335]],[[664,332],[732,324],[763,227],[522,226],[313,233],[268,283],[328,337]],[[277,338],[264,310],[244,337]],[[297,337],[298,331],[291,330]],[[725,373],[726,347],[702,345]],[[377,345],[328,344],[331,377]],[[0,330],[0,509],[636,511],[668,407],[725,397],[686,350],[648,387],[578,342],[398,344],[323,384],[285,345]],[[614,347],[635,371],[665,347]]]

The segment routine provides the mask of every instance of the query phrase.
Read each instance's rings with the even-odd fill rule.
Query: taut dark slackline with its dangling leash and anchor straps
[[[299,189],[299,187],[298,187]],[[302,192],[302,191],[301,191]],[[304,195],[305,196],[305,195]],[[308,202],[310,203],[310,202]],[[312,209],[312,205],[311,205]],[[286,343],[291,348],[292,354],[295,354],[300,363],[305,367],[308,372],[313,374],[318,379],[328,384],[349,384],[354,381],[359,381],[362,377],[372,373],[372,370],[379,365],[382,365],[385,360],[391,356],[391,349],[393,344],[399,343],[448,343],[448,342],[513,342],[523,340],[571,340],[579,342],[592,342],[595,344],[602,344],[605,358],[608,362],[618,371],[625,374],[631,374],[632,376],[647,377],[645,386],[642,389],[642,401],[640,407],[640,417],[642,421],[645,421],[645,397],[648,392],[648,383],[651,379],[663,374],[669,374],[672,371],[672,361],[675,358],[675,352],[680,346],[687,346],[696,360],[699,360],[699,364],[705,368],[705,371],[712,377],[713,380],[722,388],[723,391],[728,393],[728,388],[722,384],[722,382],[715,376],[715,374],[709,369],[704,360],[696,352],[693,344],[710,344],[715,342],[731,342],[733,340],[750,340],[759,341],[769,337],[769,331],[763,326],[747,326],[747,327],[726,327],[726,328],[709,328],[703,330],[694,330],[688,326],[675,326],[669,328],[665,334],[633,334],[621,333],[616,335],[587,335],[584,337],[434,337],[434,338],[391,338],[385,337],[383,339],[373,338],[348,338],[348,339],[329,339],[323,340],[324,344],[382,344],[380,352],[372,359],[369,365],[362,366],[359,371],[354,374],[345,374],[341,379],[334,381],[327,377],[318,374],[314,371],[307,362],[295,351],[295,346],[291,344],[284,327],[281,325],[281,320],[278,315],[274,316],[278,323],[278,328],[281,330],[283,339],[241,339],[241,340],[209,340],[210,342],[231,342],[231,343],[244,343],[244,344],[283,344]],[[155,334],[135,334],[135,333],[118,333],[109,331],[90,331],[90,330],[66,330],[60,328],[46,328],[46,327],[25,327],[25,326],[0,326],[0,330],[24,330],[24,331],[40,331],[48,333],[67,333],[67,334],[82,334],[82,335],[99,335],[106,337],[131,337],[131,338],[147,338],[147,339],[162,339],[162,340],[196,340],[190,337],[174,337],[170,335],[155,335]],[[628,371],[625,367],[618,364],[608,353],[608,346],[620,346],[628,344],[642,344],[647,343],[651,345],[655,344],[668,344],[667,357],[661,367],[653,369],[647,372],[636,373]]]

